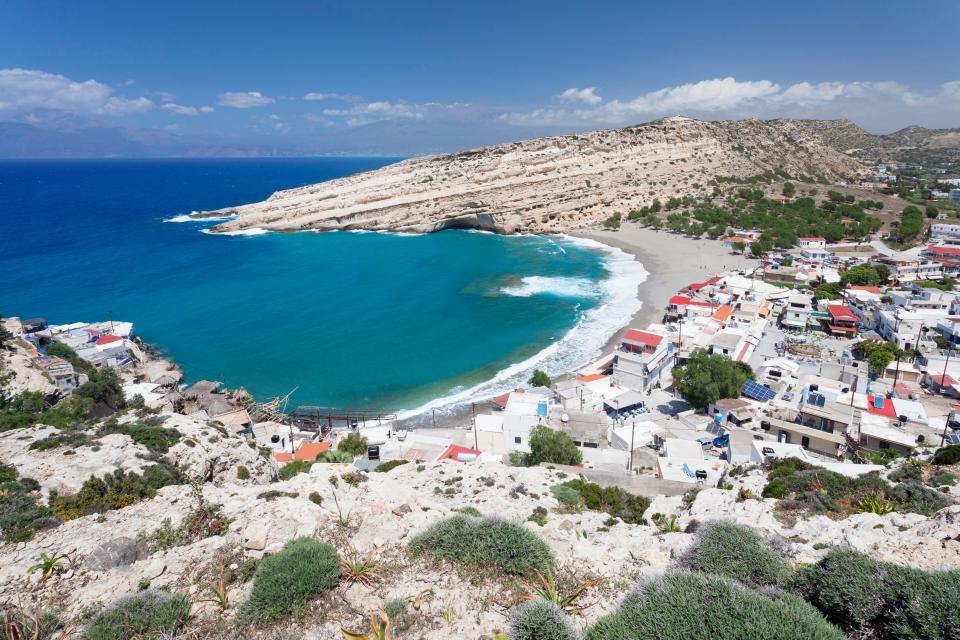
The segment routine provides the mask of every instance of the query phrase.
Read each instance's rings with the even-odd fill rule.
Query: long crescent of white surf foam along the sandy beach
[[[511,364],[499,371],[491,380],[487,380],[469,389],[451,389],[441,398],[399,414],[399,418],[410,418],[434,409],[452,409],[468,402],[490,398],[526,384],[530,371],[540,368],[550,375],[558,375],[577,368],[598,357],[610,336],[630,322],[633,314],[642,306],[637,297],[637,287],[650,274],[633,256],[608,245],[571,236],[557,236],[568,245],[577,245],[604,254],[605,266],[609,277],[593,287],[599,286],[603,302],[587,311],[580,321],[567,334],[539,353],[522,362]],[[524,278],[528,280],[528,278]],[[547,280],[551,280],[547,278]],[[559,278],[553,280],[578,280],[577,278]],[[569,283],[564,283],[567,286]],[[523,287],[521,284],[519,287]],[[533,295],[533,294],[530,294]]]

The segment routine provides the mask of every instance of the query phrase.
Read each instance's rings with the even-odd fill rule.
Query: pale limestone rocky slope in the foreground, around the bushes
[[[474,509],[523,523],[548,543],[560,567],[580,577],[604,578],[585,598],[591,606],[577,618],[581,624],[613,610],[639,577],[671,568],[693,539],[683,531],[692,530],[695,522],[746,524],[778,541],[779,551],[794,563],[815,562],[828,549],[845,547],[919,568],[960,567],[957,505],[931,517],[861,513],[842,520],[814,516],[791,525],[775,512],[777,500],[752,497],[760,495],[765,483],[763,471],[753,469],[730,478],[729,488],[654,498],[647,521],[654,520],[654,513],[678,516],[677,526],[668,528],[678,531],[665,532],[653,525],[616,522],[598,511],[564,512],[551,487],[572,476],[559,469],[443,461],[358,473],[352,465],[315,464],[278,482],[273,462],[242,439],[184,416],[160,417],[164,426],[175,426],[182,434],[168,459],[206,482],[167,486],[153,499],[68,520],[25,542],[3,544],[0,604],[54,611],[73,621],[71,632],[80,637],[82,621],[101,607],[141,589],[168,587],[190,594],[195,625],[216,630],[229,624],[250,590],[250,582],[231,581],[221,611],[210,594],[224,572],[236,575],[290,540],[316,536],[342,556],[372,552],[383,563],[382,579],[342,584],[318,610],[304,612],[303,622],[285,620],[250,631],[251,637],[340,637],[341,623],[363,626],[371,608],[425,590],[431,591],[423,596],[411,637],[492,637],[508,626],[507,605],[514,595],[509,584],[482,571],[414,557],[407,547],[430,525]],[[101,438],[95,450],[30,449],[48,435],[49,428],[42,426],[0,434],[0,459],[15,466],[21,477],[37,479],[44,493],[51,488],[76,491],[90,473],[137,468],[149,457],[123,434]],[[951,490],[956,494],[956,487]],[[201,503],[220,505],[220,534],[188,542],[170,538],[170,527],[176,529]],[[528,520],[538,513],[542,525]],[[41,553],[65,556],[63,570],[48,579],[28,573]]]

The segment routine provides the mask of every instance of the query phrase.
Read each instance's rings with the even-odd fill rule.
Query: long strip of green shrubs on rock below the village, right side
[[[891,485],[879,473],[850,478],[796,458],[769,463],[769,482],[763,497],[785,499],[782,511],[845,516],[870,511],[930,515],[949,504],[940,492],[917,480]]]

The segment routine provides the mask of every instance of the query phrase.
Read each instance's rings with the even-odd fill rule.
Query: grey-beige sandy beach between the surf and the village
[[[703,282],[723,271],[757,266],[756,260],[734,255],[719,240],[695,240],[629,222],[619,231],[591,229],[571,235],[622,249],[635,256],[650,274],[639,287],[643,306],[629,325],[610,337],[604,353],[613,349],[628,328],[642,329],[651,322],[659,322],[667,300],[682,287]]]

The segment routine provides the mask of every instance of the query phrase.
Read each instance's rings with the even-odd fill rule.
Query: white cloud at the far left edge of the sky
[[[125,115],[152,109],[147,98],[113,95],[96,80],[77,82],[34,69],[0,69],[0,111],[25,115],[35,109],[77,114]]]

